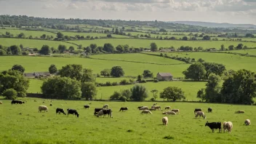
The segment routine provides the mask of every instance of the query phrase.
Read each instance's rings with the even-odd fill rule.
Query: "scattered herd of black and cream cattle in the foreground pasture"
[[[36,100],[34,100],[34,101],[36,102]],[[23,102],[22,100],[12,100],[11,104],[12,105],[13,104],[20,104],[21,105],[23,103],[25,103],[25,102]],[[2,104],[2,102],[0,102],[0,104]],[[50,103],[50,106],[52,106],[52,103]],[[87,109],[87,108],[89,108],[89,105],[84,105],[84,109]],[[141,111],[141,113],[151,113],[151,114],[152,114],[151,111],[161,110],[161,106],[156,105],[156,103],[153,103],[153,106],[151,106],[151,108],[148,108],[148,106],[139,106],[137,108]],[[170,106],[166,106],[164,108],[164,110],[169,110],[169,111],[162,112],[162,114],[164,114],[164,115],[176,115],[176,114],[180,113],[179,109],[171,109]],[[39,105],[39,113],[41,113],[42,111],[48,112],[48,108],[47,108],[46,105]],[[121,107],[119,111],[128,111],[128,108],[127,107]],[[94,116],[97,116],[97,117],[104,116],[105,117],[105,115],[108,114],[108,117],[113,118],[112,112],[113,111],[111,109],[108,109],[108,104],[105,104],[105,105],[103,105],[102,108],[95,108]],[[204,112],[202,111],[201,108],[195,108],[195,110],[193,112],[194,112],[196,118],[197,117],[200,117],[200,118],[203,117],[204,119],[206,119],[206,115],[204,114]],[[66,115],[63,108],[56,108],[56,114],[57,113],[59,113],[59,114],[63,113],[64,115]],[[75,109],[68,108],[67,113],[68,114],[73,114],[73,115],[75,115],[79,118],[79,113]],[[208,113],[212,113],[212,108],[208,108]],[[244,113],[244,111],[236,111],[235,113]],[[161,120],[162,120],[162,123],[167,126],[168,117],[164,116]],[[244,124],[249,125],[249,124],[251,124],[251,121],[249,119],[246,119],[244,121]],[[231,132],[231,130],[233,129],[233,124],[232,124],[231,121],[224,121],[223,122],[223,128],[222,128],[222,124],[221,124],[220,121],[211,122],[211,123],[209,123],[207,121],[207,123],[205,124],[205,127],[207,127],[207,126],[210,129],[212,129],[212,132],[215,132],[215,129],[219,129],[219,132],[221,132],[222,129],[223,129],[223,132],[226,132],[226,131]]]

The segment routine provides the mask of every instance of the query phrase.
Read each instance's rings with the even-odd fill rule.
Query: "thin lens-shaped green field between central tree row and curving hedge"
[[[111,55],[92,55],[92,58],[106,59],[106,60],[120,60],[120,61],[134,61],[141,63],[157,63],[160,65],[177,65],[177,64],[185,64],[179,60],[172,60],[165,57],[153,57],[151,55],[145,54],[111,54]]]

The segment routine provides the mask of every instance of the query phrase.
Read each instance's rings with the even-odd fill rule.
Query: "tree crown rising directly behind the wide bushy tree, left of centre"
[[[80,81],[82,77],[82,69],[82,65],[69,64],[63,66],[58,74],[60,75],[60,77],[69,77],[71,79],[76,79],[77,81]]]

